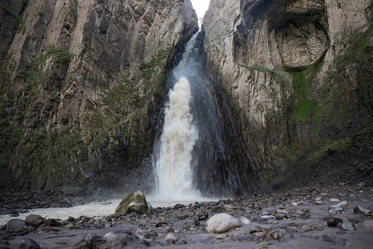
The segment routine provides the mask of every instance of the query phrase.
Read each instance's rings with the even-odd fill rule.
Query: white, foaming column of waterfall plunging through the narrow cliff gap
[[[197,75],[191,60],[200,31],[188,42],[179,65],[173,70],[178,82],[169,92],[163,134],[156,159],[157,195],[164,199],[188,199],[200,196],[193,184],[192,151],[198,139],[191,112],[191,86],[188,76]]]

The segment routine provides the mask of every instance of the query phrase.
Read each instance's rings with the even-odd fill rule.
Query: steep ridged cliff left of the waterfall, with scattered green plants
[[[189,0],[1,1],[1,166],[25,189],[146,186]]]

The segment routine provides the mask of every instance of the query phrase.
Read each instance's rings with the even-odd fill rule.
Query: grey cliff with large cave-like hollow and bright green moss
[[[206,72],[258,187],[372,136],[372,13],[371,0],[211,0]]]

